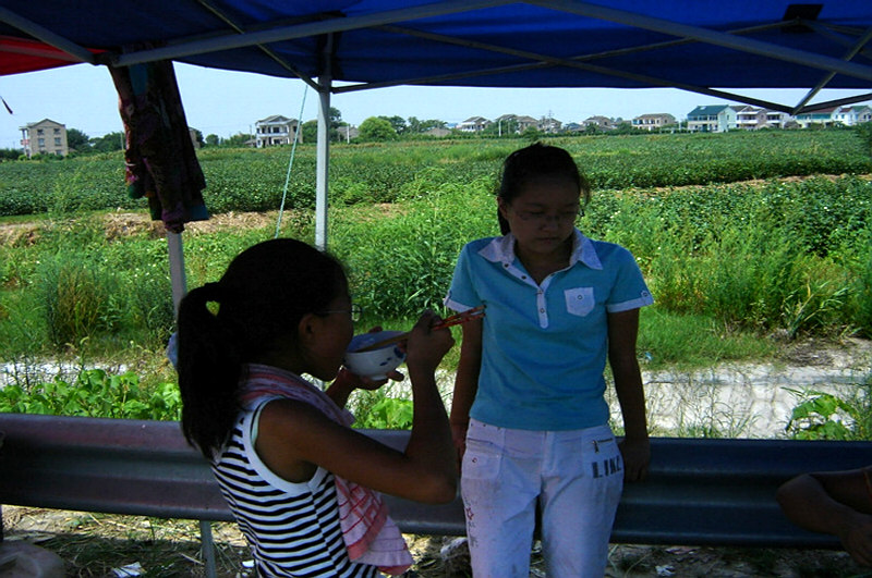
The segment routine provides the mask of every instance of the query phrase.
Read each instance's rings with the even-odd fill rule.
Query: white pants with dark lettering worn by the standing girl
[[[526,431],[471,420],[461,472],[475,578],[528,578],[535,511],[548,578],[602,578],[623,489],[608,426]]]

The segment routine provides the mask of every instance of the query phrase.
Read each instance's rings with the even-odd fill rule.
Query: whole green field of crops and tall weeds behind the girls
[[[525,144],[332,147],[329,248],[348,266],[364,325],[404,329],[423,308],[440,307],[461,246],[497,234],[494,179],[502,158]],[[655,296],[639,342],[649,367],[765,358],[777,343],[806,336],[872,337],[872,157],[856,132],[554,144],[572,152],[594,185],[579,226],[630,248]],[[199,156],[213,212],[279,207],[289,148]],[[0,163],[0,212],[19,216],[0,220],[0,231],[20,232],[0,247],[0,360],[123,364],[133,377],[112,385],[112,376],[88,373],[86,381],[98,392],[114,386],[152,399],[131,415],[164,404],[171,417],[166,241],[107,233],[106,217],[119,208],[145,212],[143,200],[126,197],[122,173],[120,156]],[[281,235],[313,241],[314,177],[314,149],[303,146]],[[217,279],[275,230],[272,222],[185,233],[189,286]],[[446,368],[456,361],[449,357]],[[74,397],[76,389],[63,384]]]

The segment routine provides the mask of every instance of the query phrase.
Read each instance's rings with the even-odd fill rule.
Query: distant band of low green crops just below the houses
[[[594,189],[708,185],[813,174],[870,174],[870,144],[856,131],[580,136],[548,139],[567,148]],[[520,139],[414,140],[334,145],[330,198],[338,205],[395,202],[426,186],[492,180]],[[213,212],[314,207],[315,149],[207,148],[199,152]],[[422,188],[423,187],[423,188]],[[0,163],[0,217],[46,211],[136,209],[121,152]]]

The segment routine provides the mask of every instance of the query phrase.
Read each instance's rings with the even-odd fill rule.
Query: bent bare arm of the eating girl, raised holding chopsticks
[[[457,462],[435,379],[435,370],[453,340],[447,329],[429,330],[434,321],[432,313],[422,316],[407,345],[414,414],[404,452],[340,426],[307,404],[281,399],[267,404],[261,414],[258,456],[292,482],[311,479],[320,466],[347,480],[408,500],[453,500]]]

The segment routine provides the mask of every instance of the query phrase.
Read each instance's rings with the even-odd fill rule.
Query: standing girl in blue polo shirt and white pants
[[[536,508],[549,578],[602,577],[623,481],[649,464],[633,256],[576,229],[590,187],[570,155],[531,145],[505,161],[502,236],[463,247],[447,307],[463,325],[451,407],[476,578],[529,576]],[[608,361],[625,439],[609,426]]]

